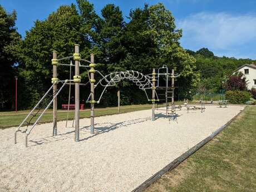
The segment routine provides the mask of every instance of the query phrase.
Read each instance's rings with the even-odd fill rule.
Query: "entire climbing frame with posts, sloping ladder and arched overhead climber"
[[[72,64],[72,59],[75,61],[75,65]],[[71,60],[70,64],[61,63],[65,60]],[[81,65],[81,62],[89,63],[89,65]],[[91,54],[91,60],[85,60],[81,58],[79,53],[79,45],[75,45],[75,53],[73,56],[68,56],[64,58],[57,58],[57,51],[53,51],[53,58],[52,58],[52,66],[53,66],[53,77],[51,79],[52,86],[46,91],[45,95],[41,98],[40,101],[36,104],[36,106],[29,112],[26,118],[22,121],[22,123],[18,126],[16,131],[14,132],[14,143],[17,143],[17,132],[22,132],[25,134],[25,145],[27,147],[27,140],[28,135],[40,121],[43,114],[45,114],[46,110],[53,104],[53,132],[52,135],[57,135],[57,96],[60,94],[61,90],[65,85],[69,85],[69,94],[68,94],[68,112],[70,106],[70,93],[71,93],[71,85],[75,85],[75,116],[73,121],[75,121],[75,141],[78,142],[79,138],[79,131],[80,131],[80,86],[87,85],[90,83],[90,95],[86,100],[87,103],[90,103],[90,132],[94,134],[95,132],[95,122],[94,122],[94,111],[95,111],[95,104],[99,104],[104,92],[106,91],[107,87],[116,86],[116,83],[120,82],[121,80],[130,80],[135,83],[139,87],[140,90],[145,92],[146,98],[148,101],[152,102],[152,121],[155,120],[155,110],[162,110],[159,107],[155,108],[155,102],[160,101],[159,96],[157,95],[156,90],[163,90],[165,91],[164,96],[165,98],[162,99],[165,101],[165,111],[166,115],[174,117],[176,116],[176,108],[179,106],[174,105],[174,79],[179,75],[175,75],[174,70],[171,70],[171,73],[168,71],[168,67],[163,65],[155,71],[155,68],[152,69],[152,73],[148,75],[144,75],[138,71],[120,71],[120,72],[112,72],[109,75],[102,75],[100,71],[95,70],[96,64],[94,62],[94,55]],[[70,79],[67,80],[59,80],[57,77],[57,66],[69,66],[70,67]],[[75,75],[73,79],[71,79],[71,68],[75,67]],[[88,70],[88,78],[89,81],[87,83],[81,83],[81,76],[80,76],[80,67],[89,68]],[[98,73],[101,76],[101,79],[96,83],[95,80],[95,73]],[[165,84],[160,85],[161,77],[164,77]],[[171,80],[171,86],[169,86],[169,80]],[[58,88],[58,85],[60,88]],[[95,89],[98,86],[102,86],[103,91],[98,100],[95,100]],[[152,97],[150,98],[147,94],[146,90],[152,90]],[[52,94],[51,94],[52,91]],[[171,106],[169,106],[169,99],[171,99]],[[48,101],[48,102],[47,102]],[[45,104],[43,109],[39,106],[41,104]],[[158,106],[158,105],[157,105]],[[40,112],[42,110],[42,112]],[[32,120],[35,122],[32,124]],[[67,113],[67,120],[68,120],[68,113]],[[26,126],[24,130],[22,130],[22,126]],[[29,125],[31,125],[29,127]],[[67,127],[67,121],[66,121]]]

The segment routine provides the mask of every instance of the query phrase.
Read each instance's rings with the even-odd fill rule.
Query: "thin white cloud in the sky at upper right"
[[[234,50],[233,56],[239,56],[245,52],[237,50],[238,48],[256,43],[256,16],[253,14],[201,12],[178,19],[177,27],[183,29],[181,44],[192,50],[207,47],[220,55],[221,52],[230,53]],[[254,48],[252,51],[256,53]]]

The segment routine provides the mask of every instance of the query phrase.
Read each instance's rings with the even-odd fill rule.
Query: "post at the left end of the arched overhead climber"
[[[94,67],[95,67],[95,63],[94,63],[94,55],[91,54],[91,63],[89,65],[91,67],[90,69],[90,81],[91,81],[91,134],[94,134],[94,104],[95,104],[95,100],[94,100],[94,83],[95,83],[95,78],[94,78]]]

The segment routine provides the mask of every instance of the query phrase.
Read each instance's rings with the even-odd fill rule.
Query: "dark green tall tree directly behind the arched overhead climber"
[[[150,73],[149,68],[156,63],[156,45],[149,30],[149,6],[130,11],[129,23],[122,35],[122,45],[126,48],[126,57],[120,67],[124,70],[136,70]]]

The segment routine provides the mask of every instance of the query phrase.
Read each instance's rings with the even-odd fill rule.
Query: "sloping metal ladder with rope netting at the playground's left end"
[[[38,103],[35,105],[35,107],[29,112],[29,114],[26,116],[26,118],[22,121],[22,123],[18,126],[18,128],[16,129],[16,131],[14,132],[14,144],[17,143],[17,132],[22,132],[25,133],[25,145],[27,147],[27,138],[28,135],[31,133],[32,129],[37,125],[37,122],[41,119],[41,117],[43,116],[43,114],[45,114],[46,110],[51,106],[53,100],[58,96],[58,94],[61,92],[62,88],[66,85],[67,82],[72,81],[72,80],[65,80],[65,81],[57,81],[55,83],[52,84],[52,86],[48,89],[48,91],[46,91],[45,95],[43,95],[43,97],[40,99],[40,101],[38,101]],[[62,86],[53,94],[50,95],[50,91],[53,90],[53,85],[55,85],[56,83],[61,82],[63,83]],[[53,96],[51,101],[48,102],[48,104],[44,107],[43,111],[40,114],[41,108],[40,108],[40,104],[42,104],[43,101],[46,100],[47,96]],[[35,112],[34,112],[35,111]],[[40,115],[39,115],[40,114]],[[29,119],[29,117],[31,117]],[[33,119],[36,119],[36,121],[33,123],[33,125],[31,124],[31,121]],[[28,120],[29,119],[29,120]],[[21,127],[23,125],[27,125],[26,130],[22,131]],[[31,128],[28,130],[28,126],[32,125]]]

